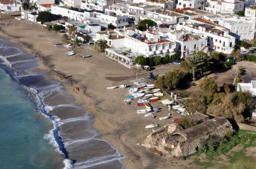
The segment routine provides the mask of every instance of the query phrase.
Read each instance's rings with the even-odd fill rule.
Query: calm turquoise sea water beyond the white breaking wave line
[[[0,68],[0,168],[63,168],[63,156],[44,139],[53,124],[36,107]]]

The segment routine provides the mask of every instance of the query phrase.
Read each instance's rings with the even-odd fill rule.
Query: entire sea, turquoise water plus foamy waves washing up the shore
[[[63,168],[62,160],[65,169],[124,168],[121,159],[125,156],[99,138],[90,113],[75,103],[51,72],[38,66],[36,56],[0,38],[0,68],[9,74],[3,79],[8,81],[9,77],[14,85],[1,80],[7,86],[0,88],[0,113],[5,117],[1,117],[0,126],[9,126],[0,129],[1,164],[5,161],[6,168]],[[9,90],[3,90],[5,87]]]

